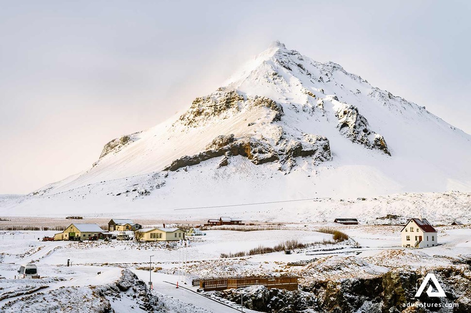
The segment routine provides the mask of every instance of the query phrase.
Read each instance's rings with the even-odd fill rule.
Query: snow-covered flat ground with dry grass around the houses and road
[[[336,227],[349,234],[351,240],[335,245],[318,245],[290,255],[274,252],[233,259],[219,257],[220,253],[247,251],[259,245],[273,247],[286,239],[303,243],[332,239],[330,234],[315,231],[321,226]],[[233,307],[225,306],[192,292],[196,289],[191,287],[191,279],[198,277],[293,274],[300,276],[300,283],[306,285],[314,280],[373,277],[395,268],[451,266],[471,259],[469,227],[438,227],[440,245],[424,249],[400,247],[400,230],[400,226],[291,224],[282,230],[206,231],[205,236],[190,238],[187,284],[183,284],[190,290],[176,289],[171,284],[178,280],[179,249],[175,243],[42,242],[38,238],[56,231],[0,231],[0,276],[5,277],[0,279],[0,311],[15,312],[25,301],[40,303],[37,295],[43,295],[41,297],[56,304],[57,296],[53,295],[57,294],[80,301],[80,297],[95,295],[93,286],[116,282],[124,268],[132,270],[147,283],[151,255],[153,295],[158,297],[158,303],[164,304],[161,309],[168,310],[161,312],[182,313],[235,312],[235,304],[230,303]],[[72,261],[71,267],[66,266],[67,259]],[[19,265],[30,262],[37,264],[43,278],[15,280]],[[290,266],[288,263],[300,265]],[[68,294],[67,290],[71,288],[76,292]],[[25,291],[30,294],[24,295]],[[130,289],[119,296],[106,298],[116,312],[145,312],[139,309],[139,303],[132,295]],[[92,305],[94,300],[90,301]]]

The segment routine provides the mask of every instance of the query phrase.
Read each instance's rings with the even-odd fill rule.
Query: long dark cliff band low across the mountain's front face
[[[255,165],[281,161],[289,168],[294,166],[296,157],[313,157],[320,163],[331,159],[329,140],[324,136],[304,134],[302,141],[282,141],[275,147],[268,140],[252,137],[235,138],[234,134],[219,135],[205,147],[205,150],[192,156],[185,155],[174,160],[164,170],[175,171],[179,168],[200,164],[203,161],[225,155],[219,167],[228,165],[229,157],[241,155]]]

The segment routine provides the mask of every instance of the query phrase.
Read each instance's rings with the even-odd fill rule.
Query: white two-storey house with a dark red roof
[[[437,246],[437,230],[425,218],[411,218],[401,231],[403,247]]]

